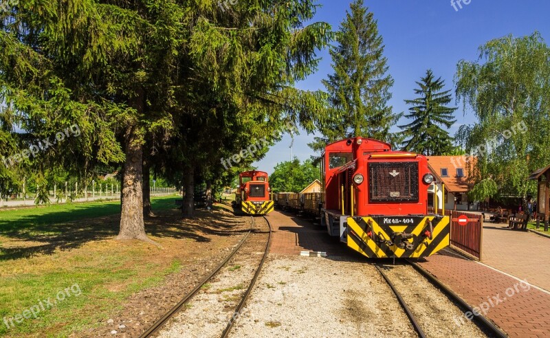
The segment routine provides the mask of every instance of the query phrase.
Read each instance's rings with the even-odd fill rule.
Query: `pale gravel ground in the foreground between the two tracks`
[[[417,337],[374,267],[331,258],[270,256],[230,337]]]

